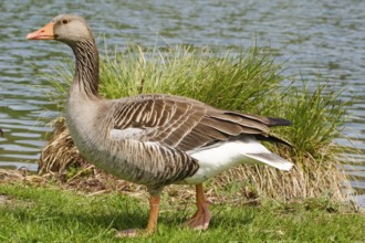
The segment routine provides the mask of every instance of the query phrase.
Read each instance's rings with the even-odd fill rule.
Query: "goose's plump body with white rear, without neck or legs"
[[[227,110],[173,95],[115,101],[80,96],[74,95],[75,101],[70,98],[66,122],[81,154],[98,168],[157,193],[170,183],[202,183],[244,162],[267,163],[282,170],[292,167],[255,139],[254,135],[263,136],[268,129],[263,124],[267,118],[233,113],[229,116],[237,116],[237,120],[229,120],[233,118],[225,114]],[[194,115],[189,117],[188,113]],[[215,114],[221,117],[213,118]],[[247,120],[234,128],[240,119]],[[226,123],[232,127],[219,130]],[[209,129],[217,134],[204,134]],[[240,137],[241,129],[252,135]],[[239,138],[231,135],[234,131]]]

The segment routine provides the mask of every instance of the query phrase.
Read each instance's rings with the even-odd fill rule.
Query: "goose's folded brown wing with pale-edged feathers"
[[[272,118],[216,109],[171,95],[122,99],[115,104],[114,113],[115,129],[142,128],[139,140],[158,141],[184,151],[244,134],[268,137],[270,123]]]

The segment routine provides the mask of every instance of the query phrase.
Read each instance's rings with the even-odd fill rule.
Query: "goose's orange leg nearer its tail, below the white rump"
[[[196,194],[198,210],[190,220],[185,222],[185,225],[189,225],[195,230],[207,230],[211,218],[209,210],[211,202],[206,199],[201,183],[196,186]]]

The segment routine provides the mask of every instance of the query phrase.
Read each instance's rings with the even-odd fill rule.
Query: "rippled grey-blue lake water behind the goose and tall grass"
[[[25,35],[60,13],[88,20],[94,34],[108,45],[126,40],[143,45],[192,44],[223,50],[270,46],[285,74],[309,80],[322,75],[343,99],[356,97],[346,124],[346,140],[362,152],[350,173],[365,189],[365,1],[1,1],[0,21],[0,166],[36,169],[36,160],[51,129],[44,117],[59,115],[49,101],[43,73],[61,65],[71,50],[54,42],[27,41]],[[100,40],[104,40],[101,38]],[[103,45],[104,43],[98,43]],[[298,75],[300,77],[300,75]],[[361,204],[365,205],[365,199]]]

